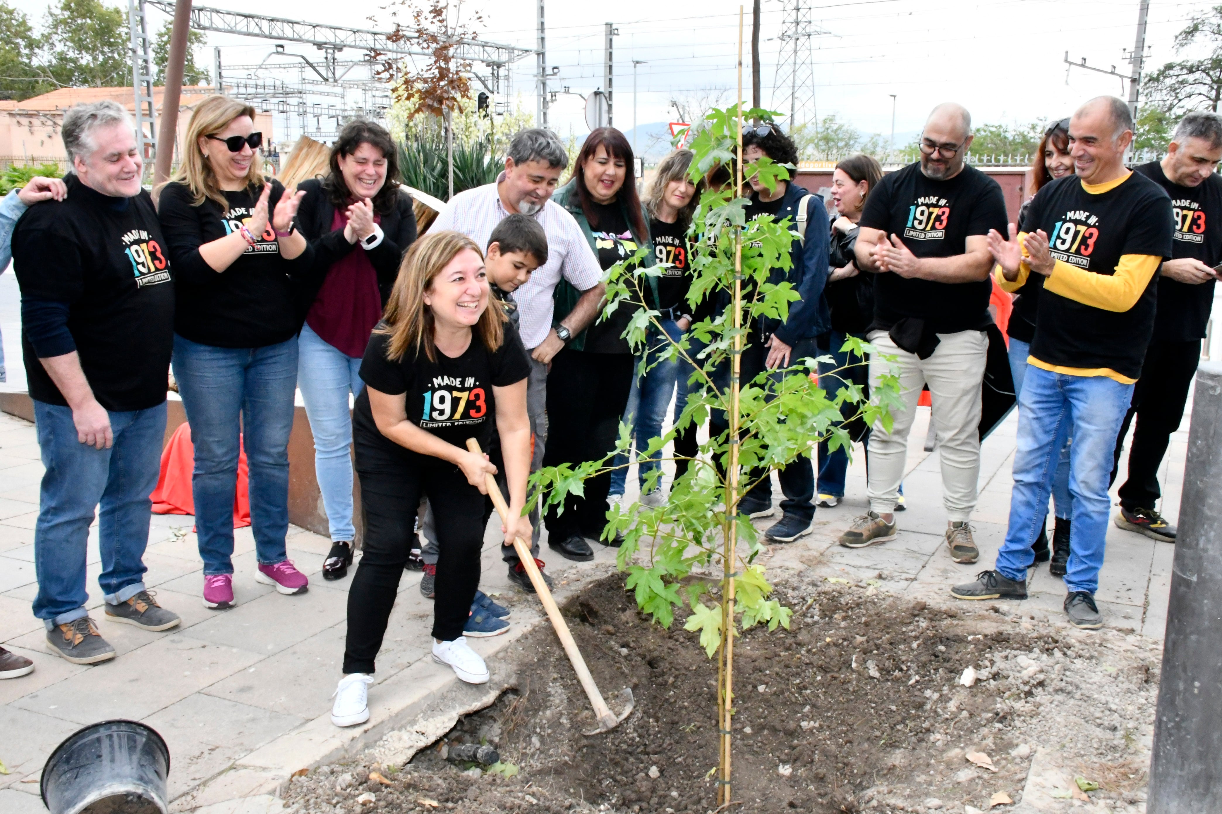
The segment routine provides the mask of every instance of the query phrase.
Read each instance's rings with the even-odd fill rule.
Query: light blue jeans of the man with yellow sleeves
[[[1011,580],[1025,580],[1040,536],[1059,450],[1073,427],[1069,455],[1069,502],[1073,527],[1069,591],[1095,593],[1103,565],[1107,535],[1107,497],[1116,436],[1129,409],[1133,386],[1106,376],[1068,376],[1034,365],[1026,370],[1018,398],[1018,449],[1014,488],[1009,499],[1009,527],[997,553],[997,570]]]

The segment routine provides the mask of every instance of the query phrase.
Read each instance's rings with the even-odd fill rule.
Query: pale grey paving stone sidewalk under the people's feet
[[[927,420],[929,411],[923,409],[913,428],[910,472],[904,482],[909,509],[899,515],[896,541],[862,550],[835,546],[836,536],[865,508],[859,455],[851,469],[848,499],[835,509],[819,510],[810,536],[767,552],[772,565],[857,580],[877,577],[884,589],[937,602],[948,600],[947,587],[953,582],[991,566],[1004,533],[1017,420],[1012,415],[984,445],[981,500],[974,521],[981,558],[973,566],[956,565],[943,549],[946,520],[937,453],[921,449]],[[1187,431],[1185,416],[1165,465],[1163,511],[1168,517],[1178,514]],[[342,581],[321,578],[330,542],[291,528],[288,556],[310,577],[310,589],[284,597],[254,582],[251,530],[238,530],[235,591],[240,604],[213,611],[200,600],[203,577],[193,519],[154,515],[147,583],[163,605],[182,616],[182,626],[149,633],[104,620],[94,526],[89,541],[90,608],[98,609],[94,619],[119,658],[94,666],[72,665],[45,650],[42,622],[31,614],[37,588],[33,527],[42,472],[33,425],[0,415],[0,643],[37,665],[29,676],[0,681],[0,762],[10,770],[0,774],[0,812],[5,814],[44,810],[38,779],[50,751],[79,726],[108,718],[147,721],[166,738],[172,755],[172,810],[275,810],[275,805],[268,808],[270,796],[297,769],[375,742],[441,705],[478,704],[489,690],[496,691],[497,681],[505,681],[496,653],[533,625],[546,624],[538,603],[508,586],[494,520],[485,541],[483,588],[497,592],[512,605],[514,624],[508,636],[474,642],[489,658],[491,686],[459,685],[447,668],[433,663],[431,603],[419,594],[419,574],[404,572],[379,659],[378,682],[370,691],[373,718],[365,726],[338,730],[329,718],[330,693],[340,677],[352,577],[349,571]],[[634,481],[629,477],[629,483]],[[1099,593],[1107,624],[1161,639],[1173,546],[1111,526],[1107,542]],[[611,570],[613,549],[595,548],[595,561],[582,565],[544,548],[561,599]],[[1033,586],[1030,599],[1011,605],[1014,611],[1058,619],[1064,596],[1059,581],[1048,577],[1045,567]]]

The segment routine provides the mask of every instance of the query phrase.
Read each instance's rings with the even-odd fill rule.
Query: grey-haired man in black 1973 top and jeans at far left
[[[12,237],[22,351],[43,475],[34,615],[73,664],[115,658],[89,618],[86,561],[98,514],[105,618],[178,624],[145,589],[149,494],[165,434],[174,284],[131,117],[114,101],[64,116],[67,196],[32,206]]]

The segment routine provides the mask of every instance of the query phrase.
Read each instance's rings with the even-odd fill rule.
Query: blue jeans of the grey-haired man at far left
[[[109,415],[115,443],[95,449],[77,441],[71,408],[34,402],[38,448],[46,467],[34,526],[34,615],[46,630],[88,614],[86,541],[94,509],[101,552],[98,585],[106,602],[127,602],[144,589],[149,495],[161,467],[165,403]]]

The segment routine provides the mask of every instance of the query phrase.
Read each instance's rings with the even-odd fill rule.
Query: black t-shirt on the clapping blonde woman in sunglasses
[[[268,211],[275,211],[285,188],[271,181]],[[292,338],[301,330],[290,275],[306,271],[306,255],[286,260],[268,223],[255,244],[218,273],[204,262],[199,247],[238,231],[259,200],[254,190],[226,192],[227,209],[213,200],[192,205],[186,184],[166,184],[158,212],[175,267],[178,294],[174,330],[192,342],[218,348],[263,348]]]

